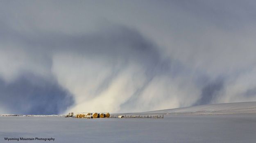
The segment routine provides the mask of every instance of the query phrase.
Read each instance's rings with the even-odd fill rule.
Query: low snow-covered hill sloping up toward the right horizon
[[[140,114],[174,114],[174,115],[198,115],[198,114],[256,114],[256,102],[221,103],[186,108],[175,108],[141,112]]]

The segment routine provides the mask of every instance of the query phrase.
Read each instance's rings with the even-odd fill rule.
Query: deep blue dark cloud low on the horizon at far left
[[[56,81],[33,74],[21,75],[12,83],[0,79],[0,104],[10,114],[59,114],[74,105],[72,95]]]

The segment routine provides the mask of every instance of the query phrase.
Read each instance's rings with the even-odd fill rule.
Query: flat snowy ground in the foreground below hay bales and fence
[[[4,137],[52,137],[54,143],[255,143],[255,135],[256,114],[164,119],[0,117],[0,143],[18,142]]]

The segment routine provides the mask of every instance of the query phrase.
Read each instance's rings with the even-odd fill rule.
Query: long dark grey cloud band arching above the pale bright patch
[[[76,35],[39,29],[24,33],[12,29],[3,21],[0,24],[3,25],[1,31],[4,31],[0,39],[2,43],[19,44],[26,52],[37,56],[45,54],[44,60],[59,52],[95,54],[99,58],[119,58],[123,61],[134,58],[143,62],[142,65],[156,64],[160,59],[156,44],[143,37],[136,29],[122,24],[108,24],[99,27],[97,31]],[[30,56],[34,56],[32,54]]]

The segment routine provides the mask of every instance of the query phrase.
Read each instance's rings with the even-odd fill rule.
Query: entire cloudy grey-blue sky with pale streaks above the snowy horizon
[[[253,0],[0,0],[0,114],[256,101]]]

